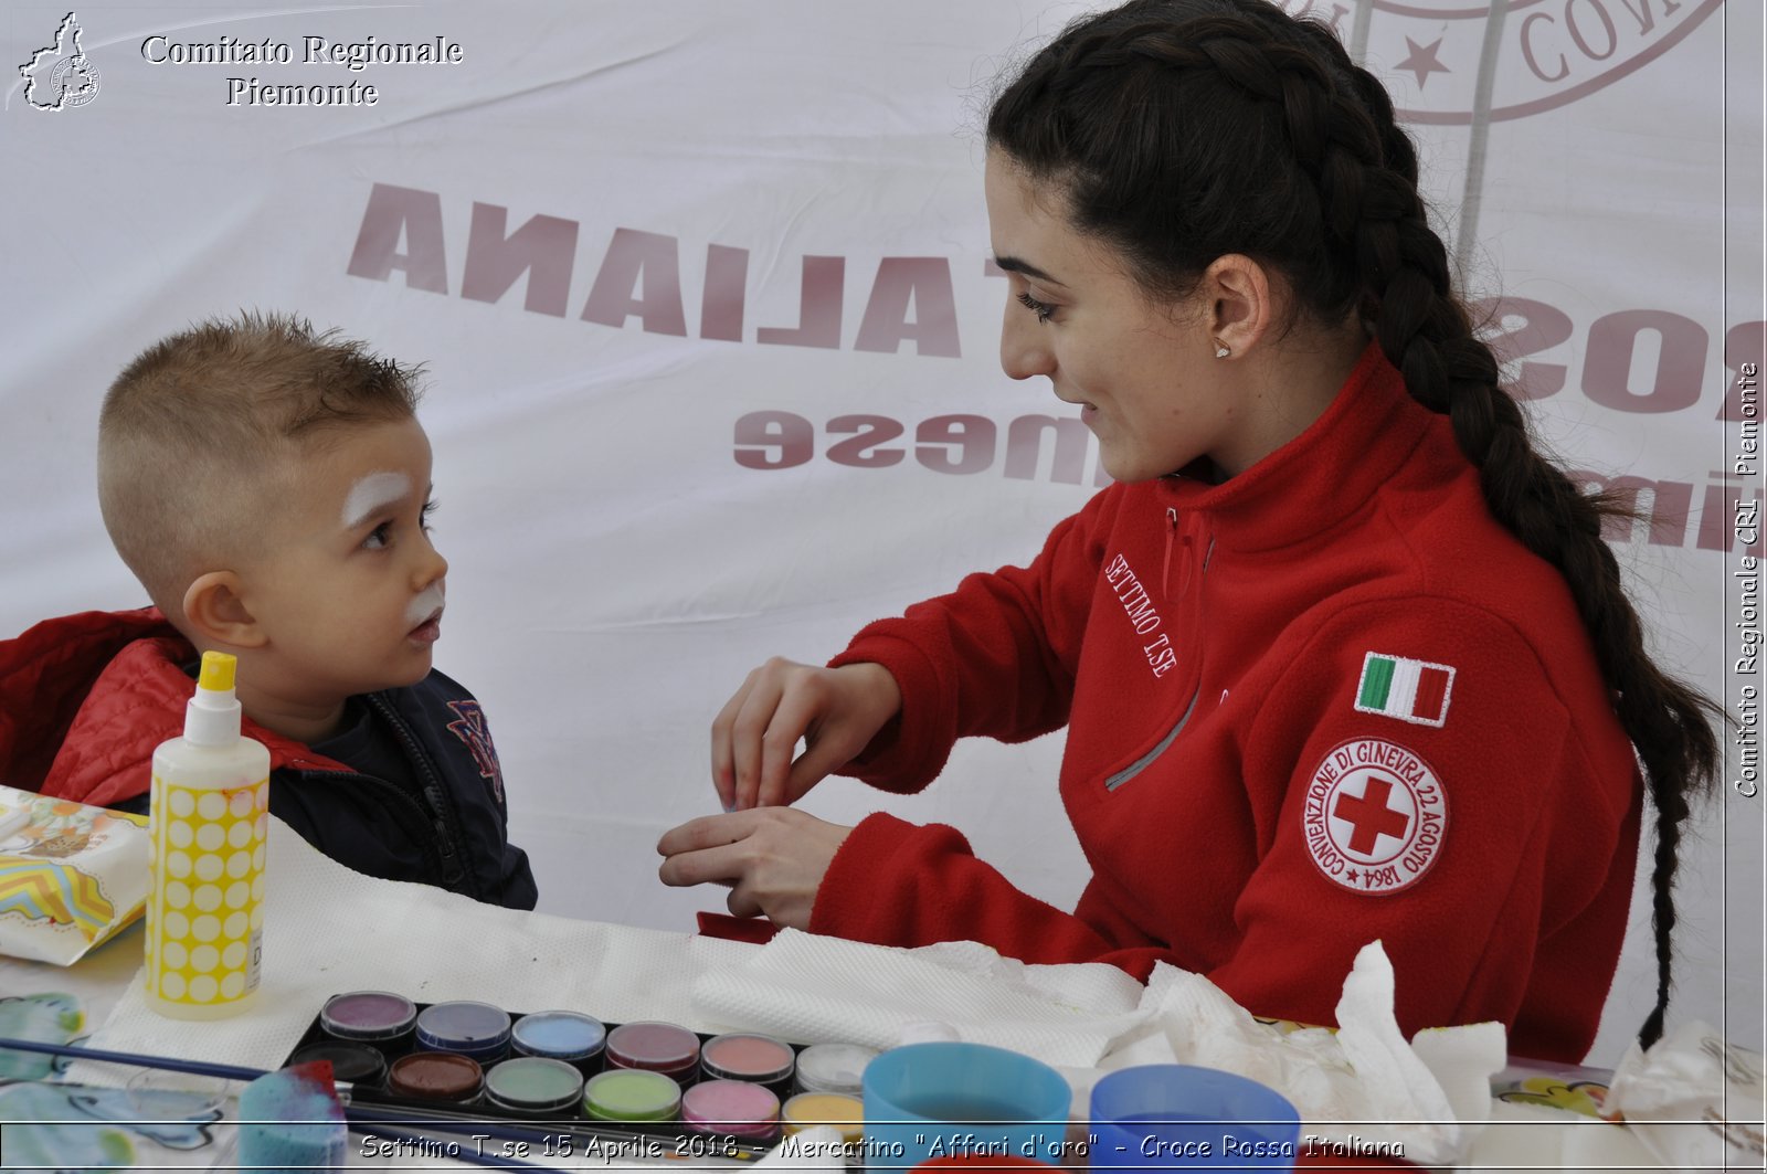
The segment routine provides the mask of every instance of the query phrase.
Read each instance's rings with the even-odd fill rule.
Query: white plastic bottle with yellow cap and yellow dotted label
[[[154,750],[147,1004],[173,1018],[242,1011],[263,965],[270,751],[239,732],[235,670],[203,652],[184,737]]]

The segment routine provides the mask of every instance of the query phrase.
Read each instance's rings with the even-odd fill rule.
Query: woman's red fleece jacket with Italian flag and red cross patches
[[[951,827],[873,815],[811,930],[1164,960],[1332,1024],[1382,939],[1398,1018],[1502,1020],[1576,1061],[1613,980],[1642,783],[1562,576],[1488,513],[1449,423],[1371,347],[1299,438],[1221,484],[1115,484],[1028,568],[862,629],[899,721],[846,771],[912,792],[952,743],[1062,725],[1092,866],[1074,912]]]

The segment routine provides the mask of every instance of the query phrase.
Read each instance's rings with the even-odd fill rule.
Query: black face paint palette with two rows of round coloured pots
[[[806,1050],[758,1033],[700,1034],[657,1020],[604,1024],[571,1010],[519,1013],[352,990],[325,1002],[284,1063],[330,1061],[352,1086],[352,1107],[385,1110],[389,1128],[426,1117],[482,1121],[532,1130],[535,1144],[546,1137],[553,1149],[578,1139],[580,1155],[620,1146],[645,1158],[746,1160],[815,1116],[802,1098],[783,1112]],[[845,1117],[834,1124],[852,1130]]]

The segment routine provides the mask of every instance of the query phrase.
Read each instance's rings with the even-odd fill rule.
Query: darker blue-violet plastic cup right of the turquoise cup
[[[1094,1170],[1292,1170],[1301,1114],[1256,1080],[1214,1068],[1122,1068],[1092,1086]]]

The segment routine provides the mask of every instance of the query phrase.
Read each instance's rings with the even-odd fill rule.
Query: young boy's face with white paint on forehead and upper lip
[[[429,438],[415,419],[353,426],[295,458],[239,571],[267,644],[254,686],[297,704],[413,684],[442,635],[447,560],[429,543]]]

